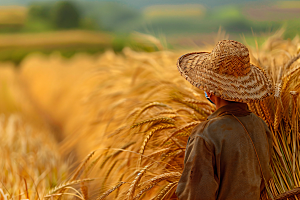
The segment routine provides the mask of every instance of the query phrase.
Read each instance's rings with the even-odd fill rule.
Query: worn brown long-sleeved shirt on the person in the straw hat
[[[259,200],[264,188],[255,145],[265,179],[271,178],[272,138],[266,123],[247,104],[223,106],[199,124],[189,137],[184,170],[176,195],[180,200]]]

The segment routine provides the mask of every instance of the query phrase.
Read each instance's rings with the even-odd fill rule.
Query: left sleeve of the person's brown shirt
[[[200,136],[190,138],[184,170],[176,190],[177,197],[179,200],[215,200],[218,188],[213,149]]]

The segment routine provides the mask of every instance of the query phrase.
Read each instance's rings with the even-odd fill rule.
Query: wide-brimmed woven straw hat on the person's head
[[[273,92],[265,72],[250,64],[247,47],[233,40],[219,41],[212,52],[185,54],[177,67],[191,84],[228,101],[259,101]]]

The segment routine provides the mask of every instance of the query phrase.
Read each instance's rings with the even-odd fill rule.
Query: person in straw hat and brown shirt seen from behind
[[[176,195],[180,200],[259,200],[271,179],[272,139],[246,103],[270,96],[271,81],[250,64],[247,47],[232,40],[219,41],[212,52],[185,54],[177,66],[217,110],[188,139]]]

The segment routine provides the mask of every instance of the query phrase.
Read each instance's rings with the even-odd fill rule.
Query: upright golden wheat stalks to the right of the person
[[[299,47],[299,37],[285,41],[275,35],[266,41],[263,52],[257,55],[257,64],[272,77],[275,94],[260,103],[249,104],[268,123],[274,136],[270,189],[276,199],[286,199],[288,195],[293,199],[297,189],[290,194],[288,191],[300,186]]]

